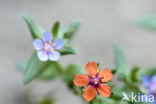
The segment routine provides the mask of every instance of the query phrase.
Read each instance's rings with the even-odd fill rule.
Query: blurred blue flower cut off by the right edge
[[[156,104],[156,75],[152,76],[151,78],[148,76],[143,76],[142,82],[147,89],[148,95],[155,96],[155,100],[151,104]]]

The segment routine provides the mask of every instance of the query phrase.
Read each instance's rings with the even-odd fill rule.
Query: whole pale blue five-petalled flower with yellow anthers
[[[62,39],[57,38],[52,41],[53,35],[51,32],[45,31],[40,39],[33,40],[33,46],[38,51],[37,56],[40,61],[58,61],[60,59],[60,53],[57,51],[64,45]]]

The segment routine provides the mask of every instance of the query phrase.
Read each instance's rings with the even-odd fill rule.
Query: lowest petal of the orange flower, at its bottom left
[[[88,86],[85,91],[83,92],[83,98],[86,101],[91,101],[96,96],[96,88],[94,86]]]

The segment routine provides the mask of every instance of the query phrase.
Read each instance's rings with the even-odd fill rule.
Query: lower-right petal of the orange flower
[[[104,97],[110,97],[111,95],[111,88],[105,84],[99,85],[97,91]]]

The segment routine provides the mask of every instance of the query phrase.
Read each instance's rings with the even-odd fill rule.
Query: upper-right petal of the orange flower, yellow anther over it
[[[108,82],[113,78],[113,74],[111,72],[111,70],[109,70],[108,68],[103,69],[100,74],[99,77],[102,78],[102,82]]]

